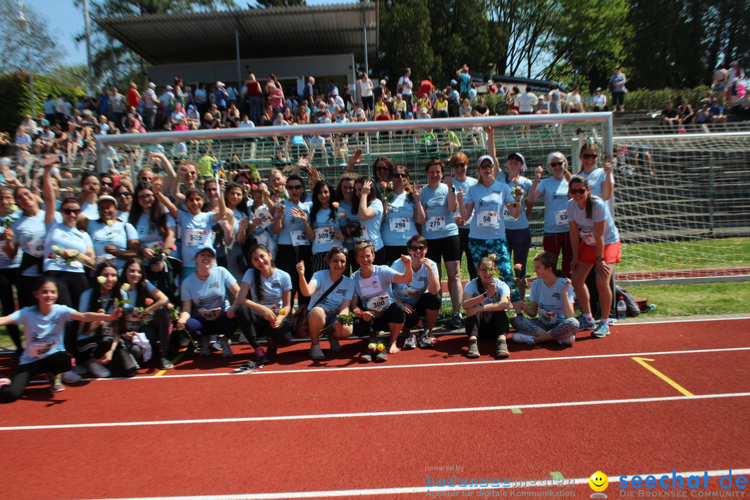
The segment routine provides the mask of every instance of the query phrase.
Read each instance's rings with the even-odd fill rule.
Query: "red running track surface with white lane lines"
[[[180,377],[175,369],[55,395],[39,386],[0,407],[0,445],[6,457],[8,450],[18,457],[5,460],[3,496],[249,498],[424,487],[425,467],[449,464],[467,476],[508,478],[746,469],[748,396],[682,397],[631,355],[707,349],[641,357],[697,397],[750,393],[748,326],[622,325],[605,340],[559,350],[511,346],[511,362],[480,364],[455,355],[463,339],[449,337],[436,352],[404,352],[364,370],[311,368],[303,343],[281,355],[296,363],[254,374]],[[214,356],[190,364],[202,366],[201,373],[226,373],[226,361]],[[440,366],[425,366],[435,361]],[[529,406],[540,403],[549,406]],[[570,403],[578,404],[564,406]],[[478,409],[487,406],[498,408]],[[442,409],[455,411],[425,413]],[[389,414],[404,411],[410,413]],[[351,415],[363,413],[369,415]],[[258,420],[220,420],[227,418]],[[92,427],[190,419],[217,421]],[[91,425],[7,430],[66,424]],[[586,490],[576,488],[579,495]],[[377,498],[425,498],[425,492]]]

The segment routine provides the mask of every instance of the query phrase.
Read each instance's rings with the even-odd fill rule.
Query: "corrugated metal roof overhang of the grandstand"
[[[280,58],[378,49],[377,1],[317,7],[274,7],[94,19],[108,34],[150,64],[236,58]]]

